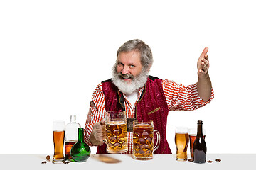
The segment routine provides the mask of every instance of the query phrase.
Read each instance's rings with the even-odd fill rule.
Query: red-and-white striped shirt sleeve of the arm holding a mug
[[[85,142],[92,146],[90,142],[90,134],[93,130],[93,125],[100,122],[105,116],[105,96],[102,91],[102,84],[99,84],[92,94],[92,101],[90,101],[89,113],[85,123]]]

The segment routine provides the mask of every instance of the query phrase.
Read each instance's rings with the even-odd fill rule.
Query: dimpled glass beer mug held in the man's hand
[[[108,153],[124,153],[127,145],[127,119],[125,111],[108,111],[105,113],[106,138]]]

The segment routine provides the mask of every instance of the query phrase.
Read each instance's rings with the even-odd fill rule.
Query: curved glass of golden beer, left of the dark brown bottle
[[[176,160],[186,161],[188,159],[188,128],[177,127],[175,132]]]

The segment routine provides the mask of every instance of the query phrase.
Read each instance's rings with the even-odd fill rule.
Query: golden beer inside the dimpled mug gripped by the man
[[[108,153],[123,153],[128,151],[126,123],[117,121],[107,123],[106,132]]]

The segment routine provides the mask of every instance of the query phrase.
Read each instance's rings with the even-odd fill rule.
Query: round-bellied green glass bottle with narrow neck
[[[90,147],[84,141],[84,128],[78,128],[78,142],[73,145],[70,153],[75,162],[85,162],[90,157]]]

